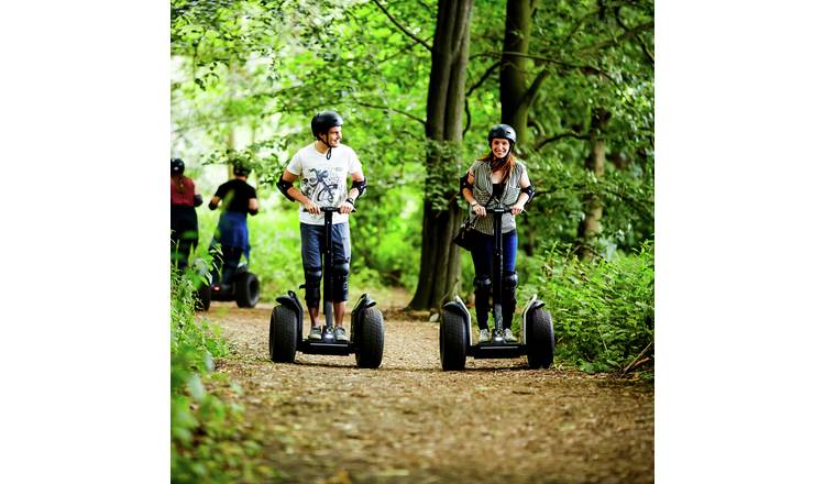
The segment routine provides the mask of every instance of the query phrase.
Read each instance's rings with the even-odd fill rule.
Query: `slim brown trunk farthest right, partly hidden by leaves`
[[[607,128],[610,113],[603,109],[593,112],[590,129],[590,156],[584,162],[584,167],[601,178],[604,176],[605,142],[602,130]],[[579,223],[579,244],[576,253],[579,258],[591,261],[596,255],[596,239],[602,231],[602,199],[597,194],[584,195],[584,220]]]

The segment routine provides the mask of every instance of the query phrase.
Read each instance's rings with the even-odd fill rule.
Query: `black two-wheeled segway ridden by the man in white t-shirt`
[[[270,359],[274,362],[293,363],[295,352],[306,354],[333,354],[346,356],[355,353],[355,364],[361,369],[377,369],[384,355],[384,316],[375,307],[370,295],[362,294],[352,310],[350,341],[336,341],[334,314],[332,310],[332,213],[338,207],[322,207],[324,249],[323,271],[323,316],[326,326],[320,340],[301,339],[304,330],[304,308],[293,290],[279,296],[270,317]]]

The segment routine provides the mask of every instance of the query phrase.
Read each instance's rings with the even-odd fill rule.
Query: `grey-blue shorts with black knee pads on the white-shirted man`
[[[307,307],[315,308],[320,304],[321,261],[324,248],[326,229],[323,226],[300,224],[300,256],[304,262],[304,279],[306,286]],[[348,280],[350,275],[350,223],[332,226],[332,267],[331,271],[333,302],[345,301],[348,297]]]

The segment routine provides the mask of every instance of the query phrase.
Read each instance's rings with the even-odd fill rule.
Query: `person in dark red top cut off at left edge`
[[[184,176],[186,165],[172,158],[172,264],[183,271],[189,254],[198,246],[198,215],[195,207],[204,204],[191,178]]]

